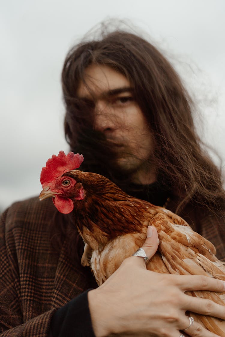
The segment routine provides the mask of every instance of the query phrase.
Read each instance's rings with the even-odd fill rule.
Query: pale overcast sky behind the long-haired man
[[[166,52],[225,159],[224,0],[8,0],[0,10],[0,208],[39,194],[64,140],[60,72],[68,49],[107,18],[129,19]],[[224,165],[224,163],[223,163]]]

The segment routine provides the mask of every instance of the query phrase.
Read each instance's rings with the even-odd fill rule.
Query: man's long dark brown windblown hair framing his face
[[[115,154],[104,136],[92,128],[92,106],[76,96],[85,69],[92,63],[112,67],[133,86],[156,145],[158,179],[180,198],[178,208],[191,201],[224,210],[221,172],[195,131],[192,99],[168,60],[151,43],[129,32],[116,30],[81,42],[66,56],[62,70],[65,135],[71,150],[84,155],[81,168],[103,174],[123,188],[125,177],[118,181],[111,160]]]

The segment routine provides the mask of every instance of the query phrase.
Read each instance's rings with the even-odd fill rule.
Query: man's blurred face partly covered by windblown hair
[[[112,144],[118,154],[117,166],[130,172],[134,182],[154,181],[152,168],[149,176],[149,168],[144,173],[143,167],[153,152],[151,133],[128,79],[108,66],[92,64],[85,70],[84,81],[77,95],[94,103],[94,129]]]

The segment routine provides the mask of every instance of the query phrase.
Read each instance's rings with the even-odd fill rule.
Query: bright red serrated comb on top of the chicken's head
[[[40,182],[44,188],[53,179],[61,176],[63,173],[75,170],[84,160],[82,154],[74,154],[69,152],[67,156],[64,151],[59,151],[58,156],[52,155],[46,162],[46,166],[42,168],[40,174]]]

